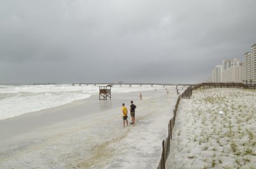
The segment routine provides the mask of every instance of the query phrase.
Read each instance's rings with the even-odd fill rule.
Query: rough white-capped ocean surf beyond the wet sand
[[[150,85],[114,85],[113,93],[143,91],[163,86]],[[99,87],[95,85],[0,85],[0,120],[15,117],[17,115],[36,112],[45,108],[58,107],[76,101],[86,99],[93,94],[99,94]]]

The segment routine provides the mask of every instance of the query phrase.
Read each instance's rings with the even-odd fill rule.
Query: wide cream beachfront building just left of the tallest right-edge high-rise
[[[243,63],[223,71],[223,82],[243,82]]]

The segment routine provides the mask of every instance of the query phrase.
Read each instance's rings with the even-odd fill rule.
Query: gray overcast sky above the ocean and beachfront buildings
[[[256,43],[255,0],[1,0],[0,83],[203,82]]]

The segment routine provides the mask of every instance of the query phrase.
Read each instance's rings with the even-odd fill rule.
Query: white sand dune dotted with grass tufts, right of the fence
[[[193,91],[179,104],[166,168],[256,168],[256,91]]]

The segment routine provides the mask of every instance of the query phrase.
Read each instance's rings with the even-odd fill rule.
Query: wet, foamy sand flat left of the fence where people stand
[[[157,168],[175,87],[98,95],[0,121],[0,168]],[[123,127],[121,104],[137,106]],[[131,116],[128,117],[131,122]]]

